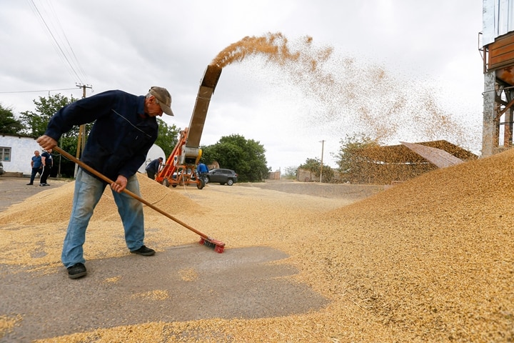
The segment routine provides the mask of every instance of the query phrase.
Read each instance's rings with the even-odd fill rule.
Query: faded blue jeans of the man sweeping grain
[[[75,179],[71,217],[61,254],[61,261],[66,268],[86,262],[82,248],[86,242],[86,228],[105,187],[109,186],[79,168]],[[126,189],[141,197],[136,175],[129,177]],[[144,244],[143,205],[124,192],[112,194],[124,225],[126,245],[129,250],[137,250]]]

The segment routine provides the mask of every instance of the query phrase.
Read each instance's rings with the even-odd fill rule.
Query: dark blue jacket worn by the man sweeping
[[[94,122],[81,160],[116,180],[131,177],[157,139],[156,117],[144,113],[144,96],[104,91],[64,106],[49,121],[45,134],[59,141],[72,126]]]

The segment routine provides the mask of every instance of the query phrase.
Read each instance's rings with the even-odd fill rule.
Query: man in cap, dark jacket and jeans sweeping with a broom
[[[37,139],[43,149],[52,149],[61,135],[74,125],[94,122],[81,160],[116,180],[110,186],[124,225],[126,245],[133,254],[151,256],[155,251],[143,242],[143,205],[123,190],[141,197],[136,172],[157,139],[156,116],[163,113],[173,116],[170,106],[171,96],[161,87],[151,87],[146,96],[105,91],[59,109],[51,117],[44,135]],[[83,249],[86,228],[105,187],[106,182],[79,168],[61,254],[71,279],[86,275]]]

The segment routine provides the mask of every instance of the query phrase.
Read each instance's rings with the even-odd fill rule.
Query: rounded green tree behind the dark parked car
[[[268,177],[266,149],[258,141],[233,134],[213,145],[202,147],[202,161],[217,161],[221,168],[233,169],[241,182],[261,182]]]

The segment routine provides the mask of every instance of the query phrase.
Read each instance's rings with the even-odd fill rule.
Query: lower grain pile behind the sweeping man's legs
[[[163,187],[145,175],[138,174],[138,180],[141,197],[163,211],[173,216],[191,209],[196,213],[202,212],[198,204],[188,197]],[[59,188],[45,190],[0,213],[0,225],[4,228],[2,232],[4,239],[0,242],[2,263],[32,264],[34,268],[59,264],[59,250],[66,235],[71,214],[74,185],[74,182],[69,182]],[[171,219],[163,217],[153,209],[146,206],[143,206],[143,209],[146,223],[162,227],[177,226],[171,222]],[[155,220],[152,221],[152,218]],[[18,230],[19,225],[23,225],[24,229]],[[150,226],[146,236],[152,235],[153,227]],[[84,249],[86,259],[106,257],[109,251],[118,252],[116,256],[126,253],[123,226],[109,187],[106,187],[91,217]],[[34,264],[34,258],[36,258],[36,264]]]

